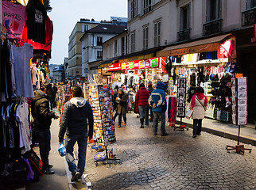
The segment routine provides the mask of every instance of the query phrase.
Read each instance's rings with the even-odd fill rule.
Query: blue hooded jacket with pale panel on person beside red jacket
[[[165,84],[163,82],[157,82],[157,89],[154,89],[149,97],[149,105],[156,104],[156,108],[152,108],[153,112],[165,112]]]

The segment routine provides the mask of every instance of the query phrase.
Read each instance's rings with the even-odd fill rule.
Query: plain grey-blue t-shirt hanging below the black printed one
[[[12,45],[14,55],[14,74],[16,82],[16,95],[21,97],[34,97],[30,73],[30,59],[33,56],[33,47],[24,44],[21,47]]]

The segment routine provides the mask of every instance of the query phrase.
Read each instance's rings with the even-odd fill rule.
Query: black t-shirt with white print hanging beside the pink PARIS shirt
[[[28,39],[45,44],[45,21],[47,13],[45,6],[39,0],[29,0],[28,11]]]

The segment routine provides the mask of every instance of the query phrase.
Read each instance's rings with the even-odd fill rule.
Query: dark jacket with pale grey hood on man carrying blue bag
[[[75,97],[64,105],[62,120],[60,123],[59,142],[63,142],[64,134],[93,135],[93,113],[91,105],[83,97]],[[89,124],[89,132],[87,130]]]

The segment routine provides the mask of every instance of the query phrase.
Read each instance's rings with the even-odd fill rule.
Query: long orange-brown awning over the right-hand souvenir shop
[[[157,57],[217,51],[219,48],[219,42],[227,38],[227,36],[231,36],[231,33],[204,40],[197,40],[186,44],[165,47],[165,49],[157,52]]]

